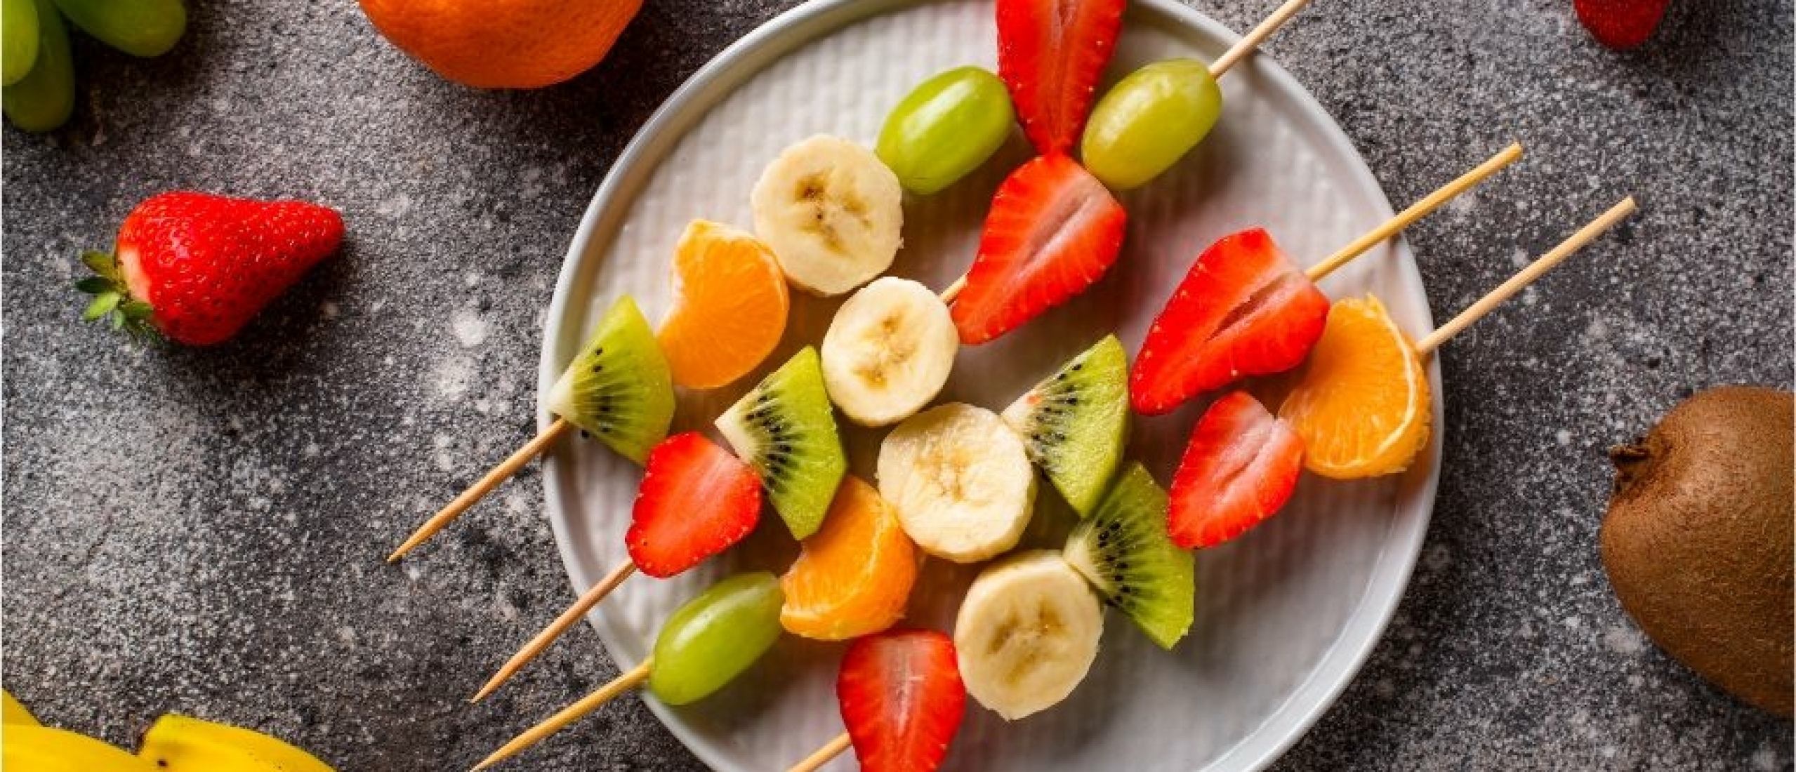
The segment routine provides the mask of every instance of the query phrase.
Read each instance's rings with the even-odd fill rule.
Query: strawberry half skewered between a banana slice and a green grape
[[[950,309],[961,343],[990,341],[1079,294],[1117,260],[1126,219],[1065,154],[1018,167],[991,199],[979,257]]]

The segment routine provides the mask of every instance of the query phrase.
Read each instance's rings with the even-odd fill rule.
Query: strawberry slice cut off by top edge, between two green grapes
[[[1121,32],[1122,0],[999,0],[999,77],[1038,153],[1079,142]]]

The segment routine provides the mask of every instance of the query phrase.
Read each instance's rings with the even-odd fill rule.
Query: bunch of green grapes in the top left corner
[[[56,129],[75,110],[65,20],[145,57],[174,48],[187,31],[181,0],[0,0],[0,106],[20,129]]]

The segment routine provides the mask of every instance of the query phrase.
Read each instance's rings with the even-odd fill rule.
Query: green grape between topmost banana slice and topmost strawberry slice
[[[893,108],[875,153],[905,190],[929,196],[991,158],[1011,122],[1004,81],[957,66],[923,81]]]

